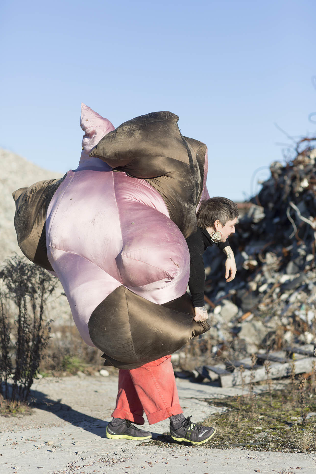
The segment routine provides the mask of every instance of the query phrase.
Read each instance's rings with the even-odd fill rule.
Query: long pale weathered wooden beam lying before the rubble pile
[[[289,377],[294,368],[295,374],[303,374],[304,372],[310,372],[315,364],[315,357],[306,357],[293,362],[286,362],[285,364],[275,363],[270,367],[271,379],[277,379],[280,377]],[[267,380],[265,368],[261,367],[256,370],[245,370],[242,374],[240,371],[235,370],[233,373],[222,374],[219,376],[221,385],[223,388],[235,387],[235,385],[247,384],[250,382],[260,382]]]

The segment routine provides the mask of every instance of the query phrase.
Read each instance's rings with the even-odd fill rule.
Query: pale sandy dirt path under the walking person
[[[177,379],[186,416],[200,421],[221,408],[205,400],[237,394],[208,384]],[[31,416],[0,418],[2,473],[316,473],[315,454],[218,450],[166,443],[110,440],[105,429],[117,392],[117,378],[72,376],[36,381],[38,400]],[[145,429],[149,425],[145,424]],[[151,426],[153,438],[168,431],[169,420]],[[209,444],[208,446],[211,446]]]

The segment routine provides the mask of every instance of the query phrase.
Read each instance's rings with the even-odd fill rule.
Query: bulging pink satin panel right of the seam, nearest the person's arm
[[[126,288],[162,304],[181,296],[189,280],[190,255],[179,228],[153,187],[113,173],[123,246],[117,266]]]

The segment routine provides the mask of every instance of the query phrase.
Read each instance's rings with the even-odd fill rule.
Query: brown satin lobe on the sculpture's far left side
[[[65,175],[66,176],[66,175]],[[48,205],[63,179],[39,181],[12,193],[18,245],[31,262],[53,271],[47,258],[45,221]]]

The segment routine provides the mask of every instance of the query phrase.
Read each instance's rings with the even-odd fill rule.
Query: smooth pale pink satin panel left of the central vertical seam
[[[47,249],[78,254],[120,281],[113,264],[122,249],[113,172],[69,171],[48,207],[46,235]]]

